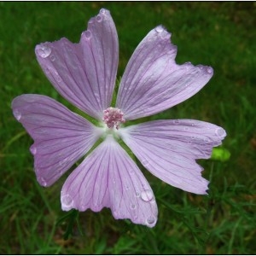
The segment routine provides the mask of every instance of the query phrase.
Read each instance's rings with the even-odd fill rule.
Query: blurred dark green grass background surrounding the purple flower
[[[192,195],[144,172],[159,206],[154,229],[81,212],[72,236],[61,212],[65,177],[44,189],[29,152],[32,139],[14,119],[15,96],[38,93],[70,106],[44,77],[34,47],[61,37],[79,42],[87,21],[111,11],[119,33],[119,76],[154,26],[172,32],[177,63],[212,66],[214,76],[188,101],[154,119],[189,118],[224,127],[229,161],[200,160],[211,181],[208,196]],[[256,3],[0,3],[0,253],[256,252]],[[139,163],[138,163],[139,164]]]

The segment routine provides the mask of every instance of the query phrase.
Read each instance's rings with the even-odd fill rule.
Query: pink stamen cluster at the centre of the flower
[[[105,109],[103,113],[102,121],[104,121],[108,128],[115,127],[118,130],[120,123],[125,123],[124,113],[119,108],[110,107]]]

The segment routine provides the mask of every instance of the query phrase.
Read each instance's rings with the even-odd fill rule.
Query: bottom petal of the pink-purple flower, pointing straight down
[[[61,190],[62,210],[99,212],[110,207],[114,218],[130,218],[153,227],[157,220],[154,194],[143,173],[112,136],[71,173]]]

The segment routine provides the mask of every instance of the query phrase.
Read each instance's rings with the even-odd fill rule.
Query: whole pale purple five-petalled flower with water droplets
[[[48,96],[21,95],[12,102],[15,118],[34,140],[30,151],[38,183],[50,186],[84,154],[61,189],[61,207],[130,218],[153,227],[158,209],[143,173],[118,143],[122,139],[143,166],[174,187],[207,194],[207,180],[195,160],[210,157],[226,133],[193,119],[154,120],[125,126],[171,108],[207,84],[212,67],[177,65],[171,34],[157,26],[137,46],[111,107],[118,67],[116,28],[107,9],[91,18],[79,44],[67,38],[38,44],[38,62],[55,89],[74,106],[97,119],[93,125]],[[103,138],[103,142],[90,149]]]

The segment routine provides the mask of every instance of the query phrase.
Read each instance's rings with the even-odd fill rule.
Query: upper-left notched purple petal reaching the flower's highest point
[[[96,119],[110,106],[118,67],[119,45],[108,10],[91,18],[79,44],[67,38],[35,49],[45,75],[76,107]]]

